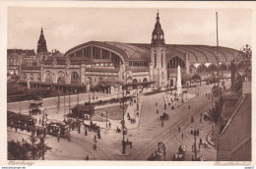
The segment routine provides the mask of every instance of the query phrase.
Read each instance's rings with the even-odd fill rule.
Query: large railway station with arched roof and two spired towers
[[[117,83],[116,92],[121,84],[126,90],[138,85],[175,86],[178,65],[183,84],[193,78],[205,81],[218,70],[216,46],[165,44],[159,13],[150,44],[89,41],[69,49],[64,55],[56,51],[49,53],[41,28],[36,52],[37,64],[23,67],[22,80],[30,77],[32,82],[80,84],[87,90],[101,87],[109,93],[114,86],[102,83]],[[238,54],[238,50],[219,47],[221,77],[230,77],[231,60]]]

